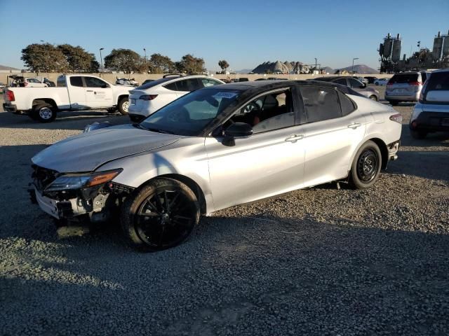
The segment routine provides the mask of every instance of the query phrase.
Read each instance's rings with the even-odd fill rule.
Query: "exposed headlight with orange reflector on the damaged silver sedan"
[[[59,176],[44,191],[76,190],[100,186],[119,175],[123,169],[107,170],[90,174],[65,174]]]

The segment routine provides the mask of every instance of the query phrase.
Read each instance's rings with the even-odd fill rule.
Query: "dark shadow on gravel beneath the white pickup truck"
[[[83,130],[88,124],[95,121],[109,121],[112,125],[128,124],[128,116],[119,113],[103,112],[61,112],[51,123],[39,123],[28,116],[19,116],[13,113],[0,113],[0,128],[20,128],[30,130]]]

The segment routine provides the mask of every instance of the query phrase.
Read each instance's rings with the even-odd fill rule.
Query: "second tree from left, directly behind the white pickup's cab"
[[[95,55],[86,52],[79,45],[74,47],[69,44],[58,45],[58,49],[61,50],[67,59],[67,64],[69,65],[69,71],[72,72],[97,72],[98,64],[95,59]]]

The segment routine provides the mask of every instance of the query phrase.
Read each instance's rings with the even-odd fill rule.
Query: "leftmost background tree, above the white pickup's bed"
[[[27,45],[20,59],[34,72],[65,72],[69,68],[62,51],[50,43]]]

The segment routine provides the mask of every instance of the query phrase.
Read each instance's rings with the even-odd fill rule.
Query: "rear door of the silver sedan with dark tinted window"
[[[302,87],[307,123],[304,187],[347,176],[351,157],[363,139],[366,120],[355,105],[333,87]]]

